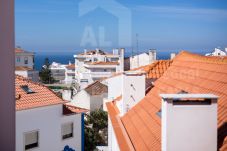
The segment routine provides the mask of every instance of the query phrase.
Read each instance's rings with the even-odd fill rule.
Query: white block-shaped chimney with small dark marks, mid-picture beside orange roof
[[[145,97],[145,72],[127,71],[122,78],[124,114]]]

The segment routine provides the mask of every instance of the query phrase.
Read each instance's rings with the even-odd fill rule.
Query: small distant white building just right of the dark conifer
[[[49,66],[52,77],[59,82],[63,82],[65,80],[66,66],[65,64],[52,62]]]

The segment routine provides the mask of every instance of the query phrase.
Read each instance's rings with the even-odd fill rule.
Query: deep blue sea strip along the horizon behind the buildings
[[[171,51],[177,53],[177,51]],[[157,51],[157,59],[164,60],[170,58],[170,53],[167,51]],[[204,55],[205,51],[193,51],[194,53],[198,53]],[[49,59],[49,62],[57,62],[61,64],[68,64],[69,62],[74,63],[74,55],[79,52],[35,52],[35,69],[40,71],[44,64],[45,58]],[[125,52],[125,57],[130,57],[131,53]]]

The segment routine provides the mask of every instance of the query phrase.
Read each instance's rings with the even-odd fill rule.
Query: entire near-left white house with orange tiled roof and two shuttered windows
[[[47,87],[16,76],[16,151],[83,150],[83,112]]]

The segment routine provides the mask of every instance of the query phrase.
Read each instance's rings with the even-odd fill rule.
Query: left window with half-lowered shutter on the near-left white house
[[[39,132],[33,131],[24,134],[24,149],[29,150],[39,146]]]

